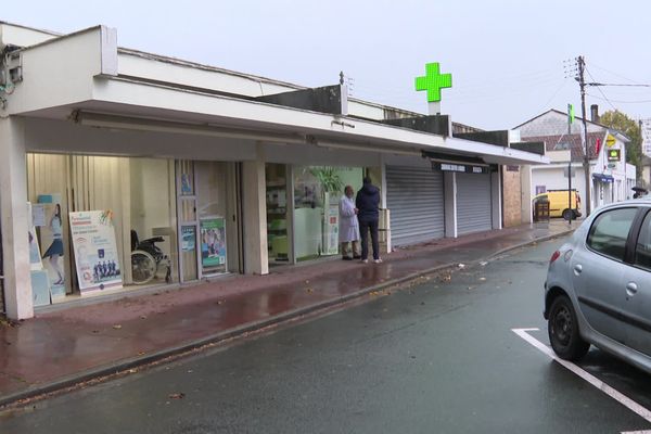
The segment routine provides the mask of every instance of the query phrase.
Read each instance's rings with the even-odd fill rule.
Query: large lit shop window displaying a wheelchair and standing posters
[[[28,154],[28,200],[40,247],[40,255],[31,256],[42,257],[40,266],[47,273],[37,281],[33,272],[35,292],[42,283],[49,303],[65,299],[66,294],[175,281],[171,169],[169,161],[156,158]],[[73,239],[71,213],[75,218],[97,217],[103,230],[111,228],[104,232],[111,237]],[[104,244],[94,244],[100,241]],[[148,259],[139,263],[139,269],[133,251]],[[33,270],[38,268],[33,264]]]

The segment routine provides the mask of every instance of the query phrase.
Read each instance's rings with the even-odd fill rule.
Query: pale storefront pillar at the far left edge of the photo
[[[4,302],[10,319],[34,317],[27,228],[27,174],[21,119],[0,118],[0,216]]]

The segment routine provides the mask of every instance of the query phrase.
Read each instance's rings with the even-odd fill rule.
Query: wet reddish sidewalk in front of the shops
[[[578,227],[573,224],[572,229]],[[268,276],[229,276],[178,290],[40,312],[0,323],[0,406],[241,335],[457,264],[571,231],[562,220],[436,240],[383,264],[329,260]]]

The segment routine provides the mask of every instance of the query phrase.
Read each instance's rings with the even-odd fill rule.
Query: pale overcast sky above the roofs
[[[105,24],[120,47],[304,86],[335,84],[343,69],[353,97],[420,113],[413,79],[439,62],[454,81],[442,111],[485,129],[578,107],[565,78],[577,55],[588,81],[651,84],[650,17],[640,0],[21,0],[0,12],[60,33]],[[651,88],[589,88],[593,103],[651,117]]]

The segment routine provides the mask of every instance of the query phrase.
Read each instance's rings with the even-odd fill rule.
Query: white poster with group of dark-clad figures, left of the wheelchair
[[[71,213],[71,235],[81,294],[122,288],[122,269],[111,210]]]

